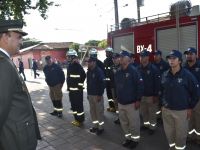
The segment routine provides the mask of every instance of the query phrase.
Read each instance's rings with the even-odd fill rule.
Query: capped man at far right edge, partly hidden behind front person
[[[189,47],[184,54],[186,55],[186,63],[184,67],[188,69],[200,84],[200,61],[197,60],[197,50]],[[194,140],[200,145],[200,101],[192,110],[192,117],[189,124],[189,140]]]

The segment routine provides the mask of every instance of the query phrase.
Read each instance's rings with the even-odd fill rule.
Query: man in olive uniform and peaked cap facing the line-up
[[[22,45],[20,20],[0,20],[0,150],[35,150],[41,139],[28,89],[11,56]]]

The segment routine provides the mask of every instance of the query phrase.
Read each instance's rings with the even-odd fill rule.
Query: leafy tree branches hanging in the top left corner
[[[43,19],[47,18],[46,12],[50,6],[59,6],[50,0],[0,0],[0,19],[22,19],[29,14],[29,10],[38,10]]]

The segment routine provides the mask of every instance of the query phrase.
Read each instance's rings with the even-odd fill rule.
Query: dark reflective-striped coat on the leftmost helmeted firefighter
[[[79,63],[71,63],[67,68],[67,89],[78,88],[83,90],[83,83],[85,81],[86,74],[83,67]]]

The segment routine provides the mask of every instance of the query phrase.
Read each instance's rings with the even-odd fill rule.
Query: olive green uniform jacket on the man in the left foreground
[[[0,150],[35,150],[37,139],[41,137],[27,87],[0,51]]]

